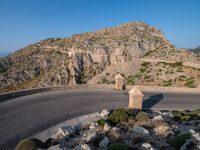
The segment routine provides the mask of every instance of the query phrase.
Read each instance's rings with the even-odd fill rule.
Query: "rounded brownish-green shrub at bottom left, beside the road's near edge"
[[[25,139],[19,142],[16,150],[37,150],[39,148],[48,148],[42,141],[38,139]]]

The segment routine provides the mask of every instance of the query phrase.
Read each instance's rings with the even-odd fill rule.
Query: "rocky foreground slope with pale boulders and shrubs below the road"
[[[199,150],[200,111],[135,111],[100,113],[101,119],[60,127],[45,143],[21,141],[16,150]],[[40,142],[34,142],[34,141]],[[29,143],[29,144],[28,144]],[[39,143],[39,144],[38,144]]]

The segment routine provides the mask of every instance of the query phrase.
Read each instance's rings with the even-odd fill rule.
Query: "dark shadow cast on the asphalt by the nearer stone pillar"
[[[156,94],[144,99],[142,109],[151,109],[154,105],[164,99],[163,94]]]

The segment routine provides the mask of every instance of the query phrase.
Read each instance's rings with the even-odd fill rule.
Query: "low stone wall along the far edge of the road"
[[[126,85],[126,90],[131,90],[134,86],[137,86],[142,92],[170,92],[170,93],[199,93],[200,88],[177,88],[177,87],[155,87],[155,86],[140,86],[140,85]],[[68,90],[68,89],[85,89],[85,88],[95,88],[95,89],[115,89],[115,84],[77,84],[77,85],[64,85],[64,86],[52,86],[45,88],[28,89],[22,91],[14,91],[8,93],[0,94],[0,102],[36,94],[46,91],[56,91],[56,90]]]

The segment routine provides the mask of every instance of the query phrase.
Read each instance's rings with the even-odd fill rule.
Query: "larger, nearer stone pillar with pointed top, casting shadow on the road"
[[[132,88],[129,92],[129,109],[142,109],[142,92],[137,88]]]

